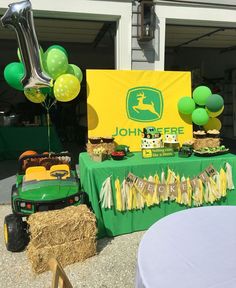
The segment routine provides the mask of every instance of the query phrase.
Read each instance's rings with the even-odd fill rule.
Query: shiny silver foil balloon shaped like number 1
[[[52,86],[52,79],[45,75],[41,68],[40,52],[34,29],[33,12],[30,1],[12,3],[8,5],[2,16],[2,25],[13,28],[25,66],[25,75],[21,80],[25,89]]]

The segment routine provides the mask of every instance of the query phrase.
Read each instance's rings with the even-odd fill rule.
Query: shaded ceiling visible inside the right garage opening
[[[166,46],[231,49],[236,47],[236,28],[167,25]]]

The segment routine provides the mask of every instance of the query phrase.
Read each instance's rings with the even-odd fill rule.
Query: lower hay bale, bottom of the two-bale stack
[[[96,254],[96,238],[75,240],[61,245],[45,246],[36,248],[29,243],[27,256],[32,265],[33,272],[39,274],[49,270],[48,260],[56,258],[62,267],[69,264],[84,261]]]

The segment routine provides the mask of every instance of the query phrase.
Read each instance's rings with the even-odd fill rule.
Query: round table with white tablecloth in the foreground
[[[157,221],[139,245],[136,288],[236,287],[235,219],[235,206],[212,206]]]

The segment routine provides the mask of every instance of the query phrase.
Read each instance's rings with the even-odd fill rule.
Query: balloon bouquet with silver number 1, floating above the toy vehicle
[[[5,67],[4,79],[12,88],[24,91],[29,101],[45,107],[50,152],[49,110],[57,101],[68,102],[78,96],[83,79],[81,69],[68,63],[64,47],[52,45],[46,52],[39,47],[29,0],[9,4],[1,22],[16,32],[20,61]]]

